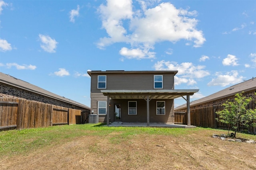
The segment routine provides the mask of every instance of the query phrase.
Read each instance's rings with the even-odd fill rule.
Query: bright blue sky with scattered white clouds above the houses
[[[0,72],[90,106],[87,70],[178,70],[191,100],[256,77],[256,1],[0,0]]]

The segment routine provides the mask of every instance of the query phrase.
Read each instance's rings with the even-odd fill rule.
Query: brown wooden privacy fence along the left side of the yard
[[[88,123],[90,110],[81,111],[25,99],[0,99],[0,131]]]

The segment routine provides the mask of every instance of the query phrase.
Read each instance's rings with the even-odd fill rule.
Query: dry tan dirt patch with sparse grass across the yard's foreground
[[[188,135],[86,135],[28,154],[5,156],[0,169],[226,170],[256,169],[256,145],[214,139],[212,130]]]

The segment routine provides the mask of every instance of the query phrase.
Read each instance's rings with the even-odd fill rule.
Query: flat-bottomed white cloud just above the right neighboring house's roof
[[[226,74],[222,74],[222,72],[216,72],[216,78],[213,78],[211,82],[209,82],[208,86],[228,86],[230,84],[237,84],[242,82],[244,79],[243,76],[238,76],[238,71],[232,70],[230,72],[226,72]]]

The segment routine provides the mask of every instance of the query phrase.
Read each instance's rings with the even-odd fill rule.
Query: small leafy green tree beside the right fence
[[[223,104],[224,109],[216,111],[218,115],[216,120],[228,124],[229,130],[232,127],[235,130],[234,137],[236,137],[239,124],[246,127],[256,127],[256,108],[247,109],[252,98],[246,98],[243,93],[236,94],[233,102],[226,101]]]

